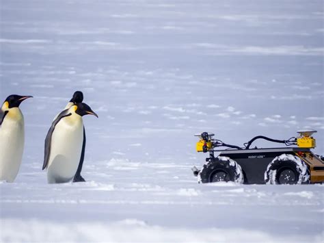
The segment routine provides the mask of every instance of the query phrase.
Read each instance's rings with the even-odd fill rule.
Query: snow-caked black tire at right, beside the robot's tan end
[[[310,170],[296,155],[282,154],[275,157],[265,171],[266,184],[307,184]]]

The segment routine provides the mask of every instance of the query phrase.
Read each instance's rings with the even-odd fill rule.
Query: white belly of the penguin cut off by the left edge
[[[18,113],[14,119],[5,117],[0,126],[0,180],[8,182],[16,179],[23,157],[25,126],[23,114]]]

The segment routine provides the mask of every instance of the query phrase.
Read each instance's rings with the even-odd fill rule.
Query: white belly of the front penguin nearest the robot
[[[47,180],[49,183],[65,183],[71,181],[77,172],[83,143],[83,121],[67,122],[62,118],[53,131],[51,140],[51,154],[47,166]]]

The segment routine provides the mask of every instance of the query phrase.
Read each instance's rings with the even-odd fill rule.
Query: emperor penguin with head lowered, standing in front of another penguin
[[[98,115],[85,103],[76,103],[53,121],[45,139],[44,164],[49,183],[72,181],[83,150],[83,118]]]

